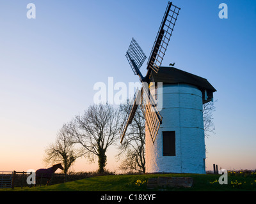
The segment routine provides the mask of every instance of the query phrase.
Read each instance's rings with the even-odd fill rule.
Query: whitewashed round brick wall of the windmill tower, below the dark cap
[[[205,173],[202,92],[193,85],[163,85],[163,124],[155,142],[146,127],[146,171]],[[176,156],[163,156],[163,131],[175,131]]]

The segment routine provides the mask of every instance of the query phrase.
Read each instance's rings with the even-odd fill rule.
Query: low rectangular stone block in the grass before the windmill
[[[193,179],[191,177],[158,177],[148,179],[147,187],[191,187]]]

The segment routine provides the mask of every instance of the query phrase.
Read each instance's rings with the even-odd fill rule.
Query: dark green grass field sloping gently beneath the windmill
[[[156,177],[192,177],[191,188],[157,187],[147,188],[148,178]],[[255,175],[243,176],[228,174],[228,184],[220,185],[220,175],[197,174],[146,174],[146,175],[108,175],[102,177],[90,177],[87,179],[41,187],[15,187],[15,189],[0,189],[0,191],[256,191]],[[138,185],[138,180],[141,183]],[[137,184],[136,184],[137,183]]]

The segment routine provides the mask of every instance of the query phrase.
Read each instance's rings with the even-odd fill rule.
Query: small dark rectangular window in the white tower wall
[[[163,156],[176,156],[175,131],[163,132]]]

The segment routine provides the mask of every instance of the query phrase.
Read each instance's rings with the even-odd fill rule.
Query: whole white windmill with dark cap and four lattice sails
[[[179,11],[180,8],[168,3],[148,59],[146,77],[141,75],[140,68],[147,57],[133,38],[126,53],[142,88],[135,94],[134,104],[125,117],[121,143],[140,105],[146,120],[147,173],[205,173],[202,105],[212,100],[216,90],[205,78],[161,67]],[[148,89],[148,85],[154,89]]]

